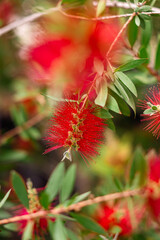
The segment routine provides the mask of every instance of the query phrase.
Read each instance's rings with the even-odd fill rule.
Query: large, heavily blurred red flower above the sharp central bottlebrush
[[[74,27],[73,21],[73,24],[69,23],[69,34],[51,36],[46,33],[43,40],[38,38],[34,45],[28,47],[25,59],[29,65],[29,76],[43,85],[53,82],[57,72],[62,72],[63,65],[65,77],[67,74],[70,78],[69,82],[66,77],[68,82],[65,91],[82,89],[83,94],[96,76],[95,62],[98,61],[106,70],[106,53],[120,30],[120,24],[117,21],[86,23],[87,30],[81,30],[82,36],[79,38],[77,33],[73,34]],[[117,50],[120,46],[122,37],[110,53],[111,62],[118,59]],[[100,78],[97,85],[98,81]],[[91,91],[90,96],[94,97],[95,91]]]

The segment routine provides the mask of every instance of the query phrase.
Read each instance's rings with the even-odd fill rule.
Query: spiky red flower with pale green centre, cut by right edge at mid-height
[[[143,121],[147,122],[145,130],[152,132],[158,139],[160,137],[160,87],[150,88],[145,100],[139,105],[144,110]]]

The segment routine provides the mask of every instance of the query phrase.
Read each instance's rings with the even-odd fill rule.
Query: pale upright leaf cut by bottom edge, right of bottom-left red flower
[[[62,220],[58,217],[55,222],[53,236],[55,240],[67,240],[67,231]]]

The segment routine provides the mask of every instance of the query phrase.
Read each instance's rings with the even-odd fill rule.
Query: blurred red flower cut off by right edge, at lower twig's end
[[[160,223],[160,155],[149,155],[149,176],[147,183],[147,204],[157,222]]]

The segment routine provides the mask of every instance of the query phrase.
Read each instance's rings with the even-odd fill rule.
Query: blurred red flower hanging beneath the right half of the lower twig
[[[142,219],[144,210],[142,208],[135,210],[134,226],[131,219],[131,214],[128,207],[125,206],[113,206],[108,205],[101,206],[96,213],[96,221],[108,231],[112,231],[114,226],[118,226],[121,229],[121,236],[129,236],[134,231],[135,227]]]

